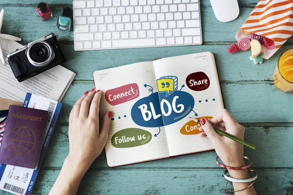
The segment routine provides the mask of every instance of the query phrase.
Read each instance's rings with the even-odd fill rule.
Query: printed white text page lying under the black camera
[[[16,41],[0,39],[4,57],[15,49],[22,47]],[[61,101],[68,90],[75,73],[61,65],[55,66],[37,76],[19,82],[10,68],[8,62],[0,61],[0,97],[23,102],[27,92],[44,98]]]

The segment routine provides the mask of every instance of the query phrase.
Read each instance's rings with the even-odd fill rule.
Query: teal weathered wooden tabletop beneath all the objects
[[[277,90],[272,74],[278,56],[290,48],[293,39],[263,64],[254,65],[250,52],[230,55],[234,35],[258,0],[238,0],[240,15],[221,23],[215,19],[209,0],[201,0],[203,45],[165,48],[76,52],[73,32],[57,29],[57,17],[72,0],[47,0],[54,18],[42,22],[35,7],[39,0],[0,0],[5,9],[2,33],[22,38],[25,44],[49,32],[59,35],[67,62],[77,76],[62,100],[62,113],[51,139],[33,194],[48,194],[68,154],[68,116],[76,100],[94,87],[95,70],[177,55],[210,51],[217,68],[226,108],[246,127],[245,139],[258,146],[245,148],[258,171],[254,186],[259,195],[293,194],[293,93]],[[84,176],[81,195],[191,195],[230,194],[225,190],[224,169],[215,163],[216,153],[206,152],[163,160],[108,168],[105,151]],[[0,192],[0,195],[6,193]]]

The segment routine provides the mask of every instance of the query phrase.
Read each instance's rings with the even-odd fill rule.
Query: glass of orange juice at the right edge
[[[275,87],[280,91],[293,91],[293,48],[280,56],[272,78]]]

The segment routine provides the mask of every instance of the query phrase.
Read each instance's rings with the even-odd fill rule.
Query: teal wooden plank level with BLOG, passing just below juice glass
[[[92,81],[73,83],[62,101],[59,122],[68,122],[77,99],[93,87]],[[293,104],[289,103],[293,102],[292,94],[280,92],[270,82],[223,82],[221,87],[226,108],[239,122],[293,122]]]

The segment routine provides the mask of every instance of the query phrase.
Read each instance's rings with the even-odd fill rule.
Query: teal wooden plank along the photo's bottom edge
[[[292,195],[292,169],[260,169],[254,187],[258,195]],[[224,169],[90,170],[80,195],[225,195]],[[42,170],[33,195],[48,194],[59,170]],[[229,184],[231,187],[231,184]],[[0,193],[1,194],[1,193]],[[2,193],[8,194],[8,193]]]

